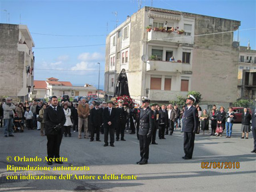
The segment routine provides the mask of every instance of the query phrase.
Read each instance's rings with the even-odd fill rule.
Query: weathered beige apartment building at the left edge
[[[27,26],[0,23],[0,97],[28,99],[34,86],[32,47]]]

